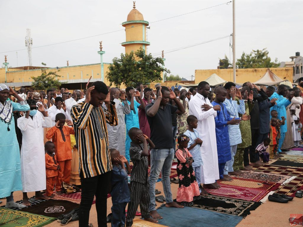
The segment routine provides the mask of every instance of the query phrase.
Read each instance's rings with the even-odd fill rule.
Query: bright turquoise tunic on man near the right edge
[[[283,95],[279,95],[277,92],[271,95],[270,99],[276,98],[276,104],[270,108],[271,110],[277,110],[278,119],[281,120],[281,117],[285,117],[285,124],[280,126],[280,133],[287,132],[287,122],[286,122],[286,107],[291,104],[291,102],[283,97]]]

